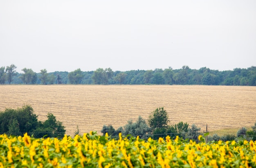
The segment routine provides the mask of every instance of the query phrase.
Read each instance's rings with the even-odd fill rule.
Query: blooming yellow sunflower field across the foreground
[[[58,138],[0,135],[0,168],[256,167],[256,141],[199,143],[179,137],[113,139],[96,132]]]

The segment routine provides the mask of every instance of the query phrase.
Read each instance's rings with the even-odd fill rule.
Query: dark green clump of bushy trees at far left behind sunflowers
[[[34,134],[34,137],[63,137],[65,127],[56,120],[52,113],[48,113],[45,122],[38,121],[34,110],[29,105],[18,109],[5,109],[0,112],[0,133],[9,135]]]

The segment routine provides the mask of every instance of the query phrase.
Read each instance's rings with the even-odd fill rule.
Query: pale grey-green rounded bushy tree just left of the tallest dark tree
[[[132,120],[128,121],[128,124],[124,126],[124,135],[131,134],[132,136],[139,136],[141,139],[146,139],[150,133],[151,129],[148,127],[146,121],[139,116],[136,122]]]

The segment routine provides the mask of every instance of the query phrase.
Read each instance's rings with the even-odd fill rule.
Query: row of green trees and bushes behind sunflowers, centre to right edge
[[[179,136],[183,140],[193,140],[196,142],[198,142],[198,136],[203,135],[203,133],[200,132],[201,128],[197,127],[195,124],[189,127],[189,124],[186,122],[181,121],[173,125],[170,125],[169,122],[167,111],[164,107],[159,107],[151,112],[147,121],[139,116],[135,122],[128,120],[126,125],[118,129],[115,129],[111,124],[103,125],[101,133],[103,133],[104,136],[108,133],[112,138],[118,138],[119,133],[122,133],[122,135],[125,136],[139,136],[140,139],[148,139],[148,137],[151,137],[155,140],[158,140],[159,137],[164,138],[167,135],[172,139]],[[254,126],[252,126],[252,130],[247,131],[247,129],[243,127],[237,131],[237,135],[227,133],[219,136],[213,134],[208,137],[208,142],[219,140],[224,142],[232,140],[239,141],[245,139],[248,141],[256,140],[256,122]]]

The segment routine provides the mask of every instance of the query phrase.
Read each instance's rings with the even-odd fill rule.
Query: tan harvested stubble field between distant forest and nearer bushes
[[[251,127],[256,122],[256,87],[203,85],[0,85],[0,111],[31,105],[38,120],[53,113],[67,135],[117,129],[164,107],[170,124],[180,121],[210,131]]]

